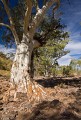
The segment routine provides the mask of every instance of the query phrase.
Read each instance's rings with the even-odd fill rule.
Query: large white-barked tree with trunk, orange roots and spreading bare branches
[[[21,2],[21,0],[19,1]],[[11,69],[10,82],[12,86],[16,87],[16,92],[26,92],[29,100],[31,100],[31,98],[39,100],[40,97],[44,97],[45,92],[39,85],[34,83],[31,78],[31,55],[33,49],[40,46],[40,43],[34,40],[34,35],[43,20],[42,16],[44,16],[47,10],[56,3],[55,8],[53,8],[55,11],[59,7],[60,1],[44,0],[43,6],[40,8],[37,0],[25,0],[21,2],[22,5],[25,5],[25,10],[22,11],[22,15],[24,14],[23,17],[19,17],[19,15],[21,15],[19,13],[22,10],[21,6],[18,6],[19,9],[16,9],[16,11],[20,11],[15,16],[13,14],[14,9],[10,7],[9,2],[6,0],[1,0],[1,2],[7,13],[8,22],[7,24],[0,23],[0,25],[7,27],[7,29],[11,31],[17,48]],[[32,13],[33,8],[35,8],[35,14]],[[20,31],[22,34],[20,34]]]

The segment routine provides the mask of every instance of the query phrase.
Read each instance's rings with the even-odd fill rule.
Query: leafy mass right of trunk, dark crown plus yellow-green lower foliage
[[[69,41],[69,36],[67,32],[64,32],[65,25],[61,24],[60,19],[56,20],[51,16],[46,16],[40,28],[42,36],[39,35],[39,32],[36,35],[40,36],[39,40],[44,39],[44,42],[43,46],[35,50],[35,75],[39,73],[39,75],[50,76],[58,65],[57,60],[68,53],[68,51],[64,51],[64,47]]]

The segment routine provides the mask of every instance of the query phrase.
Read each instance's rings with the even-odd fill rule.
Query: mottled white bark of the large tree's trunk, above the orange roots
[[[17,46],[15,59],[11,70],[11,82],[17,85],[21,92],[27,92],[27,82],[31,79],[30,64],[33,43],[23,35],[21,44]],[[23,90],[23,91],[22,91]]]

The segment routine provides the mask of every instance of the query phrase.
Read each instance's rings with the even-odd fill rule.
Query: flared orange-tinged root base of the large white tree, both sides
[[[25,93],[25,95],[27,95],[25,96],[25,98],[27,97],[28,103],[32,103],[32,104],[47,99],[47,93],[45,89],[38,83],[29,80],[27,81],[26,88],[22,90],[19,89],[19,85],[17,86],[11,84],[10,89],[8,91],[6,102],[9,102],[11,96],[14,97],[13,101],[19,101],[19,98],[17,97],[19,93],[22,94]]]

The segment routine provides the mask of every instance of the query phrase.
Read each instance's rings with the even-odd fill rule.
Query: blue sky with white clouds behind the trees
[[[13,5],[16,4],[16,0],[11,1]],[[61,22],[67,25],[65,31],[68,31],[70,36],[70,41],[66,45],[65,50],[70,52],[60,58],[58,63],[60,65],[69,65],[72,59],[81,57],[81,0],[61,0],[59,11],[63,12],[63,15],[60,16]],[[15,52],[15,49],[6,49],[0,42],[0,51],[9,53]]]

